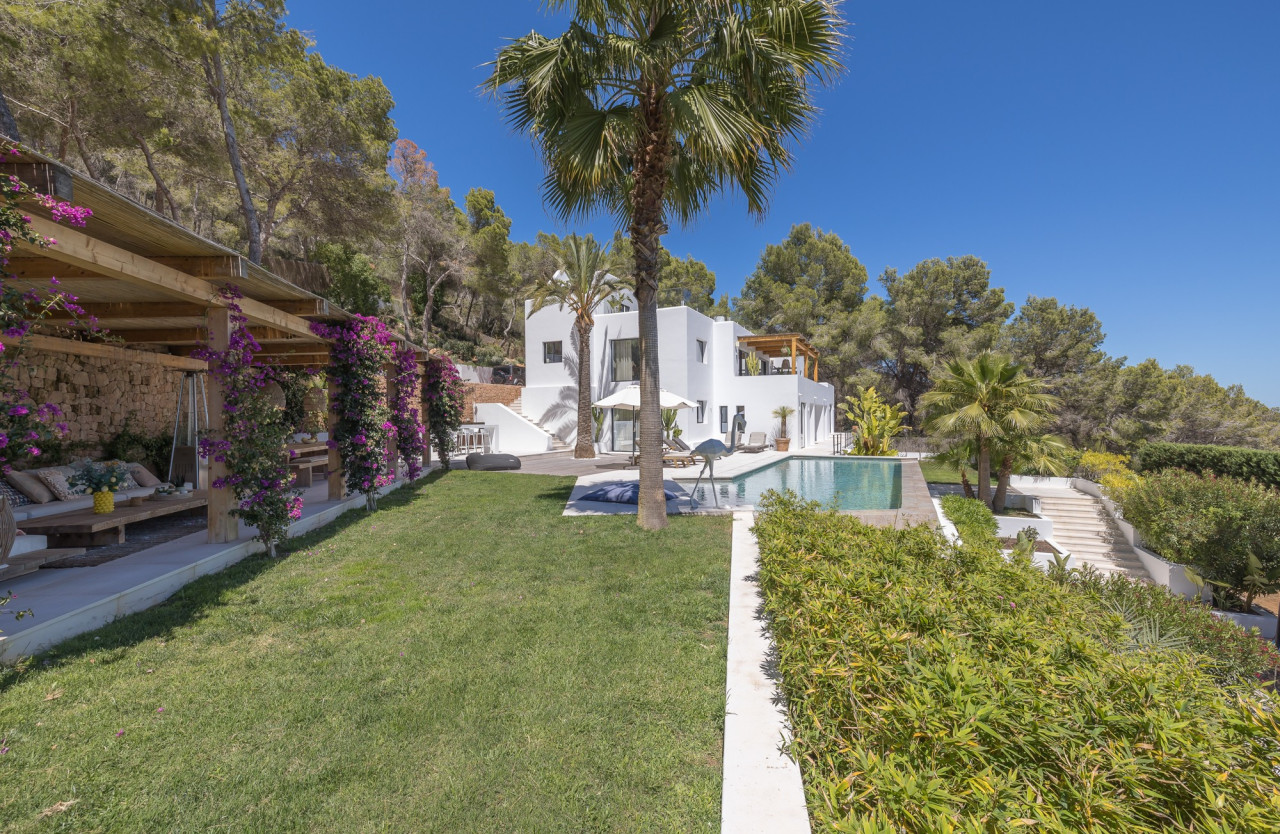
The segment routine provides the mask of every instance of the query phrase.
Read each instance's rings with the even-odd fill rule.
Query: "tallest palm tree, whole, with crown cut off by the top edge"
[[[539,145],[548,205],[626,224],[640,313],[640,524],[667,524],[658,405],[658,274],[668,216],[722,191],[763,216],[788,143],[813,122],[813,88],[841,70],[832,0],[547,0],[558,37],[502,49],[486,87]]]

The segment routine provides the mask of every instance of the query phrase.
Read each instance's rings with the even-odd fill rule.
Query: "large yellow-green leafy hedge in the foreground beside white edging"
[[[1280,720],[993,541],[771,494],[760,586],[815,831],[1275,831]]]

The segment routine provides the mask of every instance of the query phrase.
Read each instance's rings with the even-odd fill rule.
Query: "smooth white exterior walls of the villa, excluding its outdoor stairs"
[[[618,303],[634,307],[634,298],[623,295]],[[591,331],[591,402],[634,384],[611,379],[611,343],[639,335],[639,313],[634,310],[596,313]],[[796,413],[788,421],[787,434],[796,446],[827,441],[835,430],[835,389],[800,374],[739,376],[737,340],[749,335],[751,333],[736,322],[714,321],[689,307],[658,310],[658,374],[662,388],[692,402],[707,402],[703,423],[696,422],[695,409],[680,412],[677,422],[684,430],[681,439],[691,446],[712,437],[723,439],[721,405],[728,407],[730,418],[741,405],[746,414],[746,431],[763,431],[772,440],[778,434],[773,409],[790,405]],[[699,339],[707,342],[705,363],[698,361]],[[544,363],[544,342],[562,342],[564,361]],[[570,444],[577,430],[576,342],[572,313],[548,307],[527,317],[524,409]],[[605,448],[611,448],[611,418],[612,416],[604,425]]]

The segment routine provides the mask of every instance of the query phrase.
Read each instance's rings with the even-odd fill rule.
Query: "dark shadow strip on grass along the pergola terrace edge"
[[[380,498],[379,509],[407,505],[419,496],[421,487],[439,481],[442,475],[442,472],[433,472],[410,486],[402,486]],[[337,536],[367,515],[369,512],[364,508],[349,509],[323,527],[289,539],[280,547],[280,558],[271,559],[265,554],[247,556],[218,573],[200,577],[195,582],[184,585],[173,596],[154,608],[122,617],[101,628],[63,641],[38,655],[23,659],[17,666],[0,668],[0,693],[8,691],[24,675],[56,669],[90,651],[125,650],[147,640],[169,638],[175,629],[189,626],[201,619],[207,610],[224,604],[228,591],[248,585],[283,564],[291,554]]]

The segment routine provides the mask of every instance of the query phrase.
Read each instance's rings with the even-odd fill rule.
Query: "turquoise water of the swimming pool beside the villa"
[[[896,458],[801,458],[778,460],[733,478],[716,480],[721,507],[754,507],[768,490],[791,490],[836,509],[899,509],[902,464]],[[707,480],[694,491],[699,505],[714,507]]]

